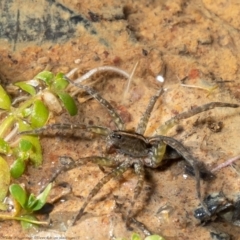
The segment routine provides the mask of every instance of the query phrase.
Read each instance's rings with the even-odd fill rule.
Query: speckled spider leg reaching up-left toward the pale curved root
[[[68,77],[65,76],[65,79],[70,82],[71,84],[73,84],[74,86],[78,87],[78,88],[82,88],[83,90],[85,90],[88,94],[90,94],[93,98],[95,98],[102,106],[104,106],[105,108],[107,108],[110,116],[113,118],[117,129],[119,130],[123,130],[124,129],[124,123],[123,120],[121,119],[120,115],[115,111],[115,109],[113,108],[113,106],[103,97],[101,97],[98,92],[86,85],[82,85],[79,83],[75,83],[73,81],[71,81]]]

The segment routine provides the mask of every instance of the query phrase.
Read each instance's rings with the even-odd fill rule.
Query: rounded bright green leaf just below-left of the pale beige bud
[[[33,104],[33,110],[31,114],[31,126],[33,128],[39,128],[45,125],[48,120],[49,111],[44,103],[40,100],[36,100]]]

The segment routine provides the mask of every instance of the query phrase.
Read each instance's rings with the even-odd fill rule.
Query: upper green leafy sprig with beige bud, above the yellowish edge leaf
[[[12,106],[10,96],[0,86],[0,109],[2,115],[5,115],[0,122],[0,153],[15,156],[16,160],[10,168],[11,176],[14,178],[23,174],[28,160],[39,166],[42,163],[42,151],[37,136],[18,135],[17,141],[11,142],[13,137],[18,132],[44,126],[51,110],[54,111],[57,104],[61,108],[62,103],[70,115],[77,113],[73,98],[65,92],[68,82],[62,73],[56,76],[48,71],[39,73],[34,82],[39,91],[31,84],[33,85],[27,81],[15,84],[29,94],[17,107]]]

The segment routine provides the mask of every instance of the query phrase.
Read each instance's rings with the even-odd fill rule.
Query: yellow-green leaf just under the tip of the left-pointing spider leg
[[[29,159],[35,167],[38,167],[42,164],[42,148],[38,136],[24,135],[22,136],[22,139],[25,139],[32,144],[31,151],[29,152]]]

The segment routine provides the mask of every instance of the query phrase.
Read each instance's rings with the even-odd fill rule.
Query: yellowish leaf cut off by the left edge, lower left
[[[0,205],[8,193],[9,184],[10,170],[7,162],[2,157],[0,157]]]

